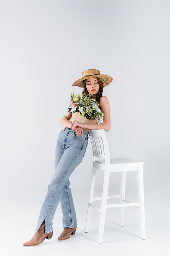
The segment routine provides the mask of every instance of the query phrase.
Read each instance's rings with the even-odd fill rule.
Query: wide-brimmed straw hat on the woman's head
[[[97,69],[87,69],[82,72],[82,78],[75,81],[72,86],[79,86],[83,87],[83,81],[87,78],[91,77],[98,77],[102,80],[103,86],[107,86],[109,83],[112,82],[113,78],[111,76],[106,76],[106,75],[100,75],[100,71]]]

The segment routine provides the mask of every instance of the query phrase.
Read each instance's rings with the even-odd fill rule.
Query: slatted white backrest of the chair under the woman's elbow
[[[110,152],[104,129],[91,130],[90,139],[93,149],[93,155],[99,158],[106,159],[106,157],[108,157],[110,159]]]

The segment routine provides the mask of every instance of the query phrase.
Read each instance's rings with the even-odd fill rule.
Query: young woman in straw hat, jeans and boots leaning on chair
[[[52,220],[58,203],[61,202],[63,213],[63,232],[58,240],[70,238],[75,234],[77,219],[70,190],[69,177],[84,158],[90,130],[104,129],[109,131],[111,126],[109,102],[102,96],[103,87],[112,82],[112,77],[100,75],[96,69],[82,72],[82,78],[72,86],[83,87],[83,94],[92,94],[100,104],[105,118],[101,124],[81,123],[77,120],[70,122],[72,114],[64,116],[60,123],[65,127],[58,136],[55,149],[55,172],[48,185],[48,191],[41,207],[34,237],[23,246],[33,246],[42,243],[45,238],[52,238]]]

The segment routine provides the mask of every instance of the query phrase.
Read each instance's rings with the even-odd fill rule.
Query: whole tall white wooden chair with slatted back
[[[91,178],[90,196],[86,220],[85,232],[88,233],[91,208],[94,208],[100,212],[100,224],[99,224],[99,237],[98,243],[103,242],[103,232],[106,208],[120,207],[120,226],[124,226],[124,207],[136,206],[139,208],[140,218],[140,236],[141,239],[146,239],[145,235],[145,208],[144,208],[144,192],[143,192],[143,162],[128,158],[117,158],[110,159],[110,152],[107,143],[107,138],[104,129],[102,130],[91,130],[90,139],[93,149],[93,170]],[[104,182],[103,182],[103,193],[102,197],[93,197],[96,172],[97,169],[104,171]],[[138,202],[131,203],[125,200],[125,182],[126,182],[126,171],[137,171],[137,184],[138,184]],[[114,196],[108,196],[108,185],[110,172],[122,172],[120,194]],[[107,204],[107,199],[120,198],[119,204]],[[102,200],[101,208],[94,205],[93,201]]]

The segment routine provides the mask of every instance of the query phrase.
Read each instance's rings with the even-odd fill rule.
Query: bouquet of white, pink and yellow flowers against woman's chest
[[[69,103],[68,111],[65,110],[64,113],[68,116],[68,113],[80,112],[80,114],[89,119],[96,119],[97,122],[102,121],[104,118],[104,114],[100,109],[100,105],[96,99],[90,97],[92,94],[80,94],[74,95],[71,93],[71,99]]]

